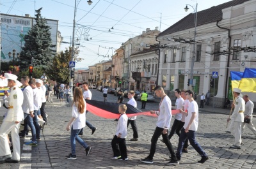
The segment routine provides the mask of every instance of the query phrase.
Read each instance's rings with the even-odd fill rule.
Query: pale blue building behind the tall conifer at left
[[[62,37],[58,31],[58,20],[47,19],[47,25],[51,27],[51,39],[54,47],[52,50],[59,52],[60,43]],[[35,24],[35,18],[28,14],[25,16],[8,15],[1,13],[1,61],[12,61],[8,56],[8,53],[13,50],[16,51],[17,57],[19,57],[21,48],[24,47],[24,36],[28,34],[28,31]]]

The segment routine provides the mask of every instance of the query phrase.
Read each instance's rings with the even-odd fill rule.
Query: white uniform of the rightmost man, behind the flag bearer
[[[253,112],[253,102],[250,101],[250,99],[245,103],[245,110],[244,110],[244,115],[248,115],[249,116],[249,119],[250,119],[250,123],[246,123],[246,122],[243,122],[242,123],[242,135],[244,133],[244,127],[247,126],[252,132],[253,134],[255,135],[256,137],[256,129],[255,127],[253,126],[252,124],[252,112]]]

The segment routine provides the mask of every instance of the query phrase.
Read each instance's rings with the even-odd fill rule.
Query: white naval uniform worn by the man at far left
[[[8,143],[7,135],[11,132],[12,136],[12,159],[20,160],[20,137],[19,128],[24,114],[22,110],[23,93],[20,88],[15,85],[10,92],[10,96],[6,98],[4,104],[9,107],[6,117],[3,119],[3,123],[0,127],[0,157],[11,154],[10,146]],[[19,121],[18,124],[15,121]]]

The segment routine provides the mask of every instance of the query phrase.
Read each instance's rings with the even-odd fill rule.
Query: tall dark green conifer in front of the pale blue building
[[[54,47],[51,39],[51,27],[47,26],[47,21],[41,15],[42,8],[36,10],[36,24],[28,31],[28,34],[24,36],[24,47],[20,52],[21,69],[28,68],[28,64],[31,63],[31,59],[34,59],[35,67],[42,67],[45,70],[49,66],[49,62],[52,61]]]

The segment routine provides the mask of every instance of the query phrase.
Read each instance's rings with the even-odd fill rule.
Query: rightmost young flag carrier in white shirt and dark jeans
[[[181,129],[180,137],[179,137],[179,145],[177,149],[177,158],[180,160],[181,153],[182,153],[182,148],[184,145],[184,142],[186,138],[188,138],[189,143],[192,145],[192,147],[200,154],[202,157],[198,163],[204,163],[207,161],[208,156],[205,153],[205,151],[202,149],[202,147],[199,145],[198,142],[195,140],[195,131],[197,131],[198,128],[198,105],[196,101],[193,99],[194,92],[193,91],[186,91],[186,98],[189,99],[189,107],[188,107],[188,112],[185,112],[184,110],[180,109],[180,112],[184,115],[185,117],[185,124],[183,128]]]

